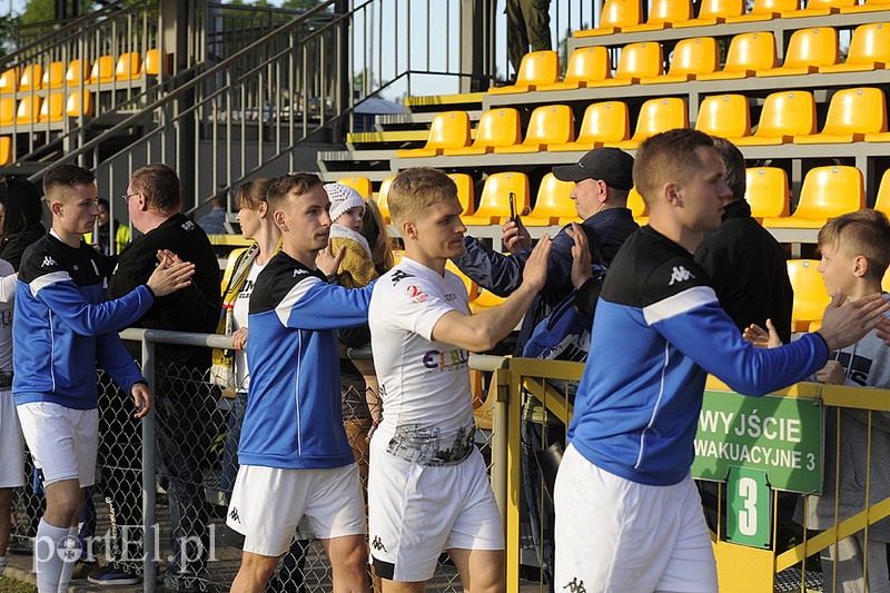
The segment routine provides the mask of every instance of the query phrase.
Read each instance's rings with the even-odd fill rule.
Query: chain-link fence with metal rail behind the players
[[[134,329],[123,335],[145,336],[142,368],[155,396],[154,413],[145,421],[135,419],[131,397],[99,373],[97,483],[81,516],[82,554],[75,576],[112,564],[138,575],[145,591],[162,590],[161,585],[228,591],[240,565],[244,540],[226,526],[226,514],[238,472],[237,443],[247,393],[235,385],[216,385],[209,368],[170,362],[169,347],[156,357],[150,342],[178,339],[182,347],[209,348],[224,346],[226,338]],[[376,413],[377,384],[369,353],[359,352],[356,358],[355,363],[342,359],[344,427],[366,487],[367,436]],[[476,442],[491,468],[493,407],[481,388],[481,374],[474,373],[479,404]],[[145,448],[149,442],[152,446]],[[34,480],[14,496],[11,547],[19,552],[30,548],[44,502],[30,456],[28,462]],[[144,467],[154,471],[144,473]],[[320,543],[295,538],[267,592],[330,589],[330,565]],[[379,591],[379,583],[375,590]],[[447,555],[439,559],[428,590],[462,591]]]

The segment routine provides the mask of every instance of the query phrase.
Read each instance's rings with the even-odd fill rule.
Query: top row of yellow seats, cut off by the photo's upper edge
[[[599,27],[576,31],[574,37],[890,9],[890,0],[863,0],[861,4],[858,0],[809,0],[807,8],[803,9],[801,9],[801,0],[754,0],[751,11],[745,13],[745,3],[744,0],[703,0],[698,16],[693,18],[691,0],[653,0],[649,8],[649,18],[643,23],[641,0],[606,0],[603,4]]]

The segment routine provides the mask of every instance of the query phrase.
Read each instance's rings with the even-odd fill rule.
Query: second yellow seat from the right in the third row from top
[[[787,90],[767,96],[753,135],[728,140],[738,146],[775,146],[807,134],[815,134],[815,99],[805,90]]]

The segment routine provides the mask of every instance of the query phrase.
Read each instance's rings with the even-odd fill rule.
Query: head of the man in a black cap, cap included
[[[633,157],[617,148],[594,148],[575,165],[553,168],[561,181],[574,181],[568,197],[577,215],[586,220],[607,208],[626,208],[633,187]]]

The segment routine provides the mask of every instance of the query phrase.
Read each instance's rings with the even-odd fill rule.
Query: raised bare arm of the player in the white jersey
[[[473,352],[494,348],[520,323],[547,277],[551,239],[544,235],[532,250],[523,270],[523,283],[507,299],[478,315],[452,310],[433,326],[433,339]]]

